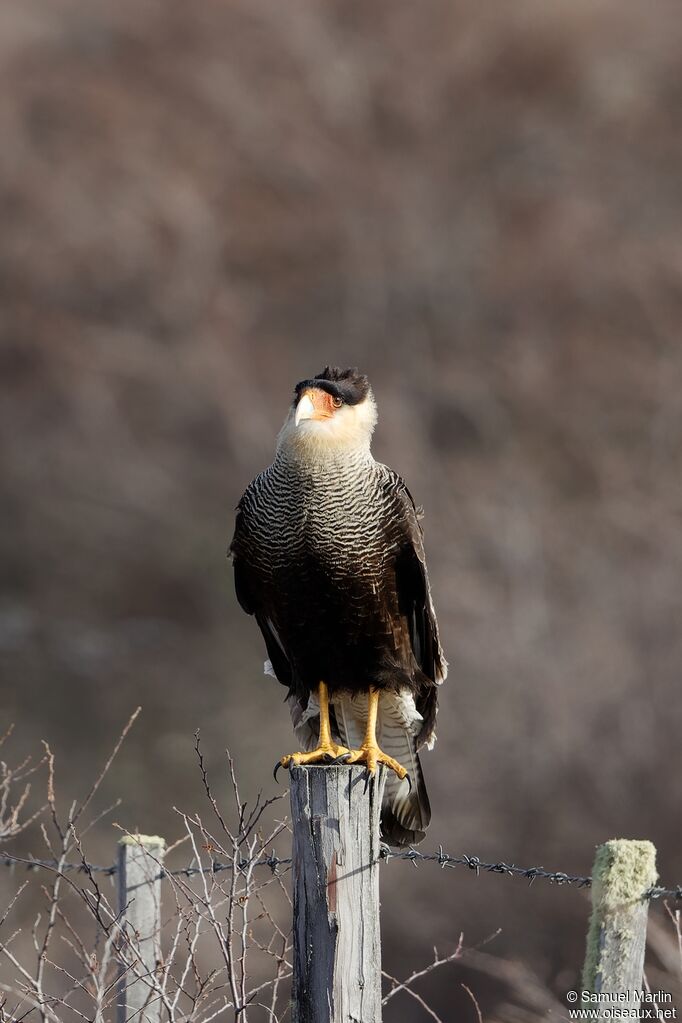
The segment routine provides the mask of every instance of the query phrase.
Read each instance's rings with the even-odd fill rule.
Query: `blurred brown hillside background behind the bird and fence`
[[[270,788],[232,509],[357,364],[450,661],[424,848],[682,880],[681,59],[674,0],[0,3],[0,713],[64,799],[137,703],[127,827],[175,835],[197,727]],[[577,891],[393,863],[382,911],[392,972],[501,928],[577,981]]]

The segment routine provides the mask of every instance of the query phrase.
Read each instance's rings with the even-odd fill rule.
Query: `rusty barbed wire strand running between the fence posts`
[[[557,885],[559,887],[574,886],[576,888],[591,888],[592,886],[592,878],[590,877],[583,877],[576,874],[565,874],[563,871],[546,871],[543,866],[517,866],[515,863],[507,863],[502,860],[499,862],[487,862],[479,856],[469,856],[466,853],[463,853],[461,856],[453,856],[450,853],[445,852],[443,846],[439,846],[438,852],[431,853],[418,852],[416,849],[405,849],[402,852],[393,852],[388,846],[382,846],[379,858],[384,862],[389,862],[391,859],[405,859],[409,860],[413,866],[418,866],[421,862],[435,862],[438,863],[442,870],[445,870],[446,868],[454,869],[456,866],[466,866],[469,871],[472,871],[476,877],[482,872],[484,874],[503,874],[508,877],[522,878],[529,882],[529,885],[533,884],[534,881],[540,878],[543,881],[548,881],[550,884]],[[119,873],[119,866],[117,863],[111,863],[108,866],[100,866],[96,863],[82,861],[80,863],[63,863],[59,866],[56,859],[26,858],[21,856],[12,856],[8,853],[0,855],[0,865],[13,868],[17,864],[25,866],[28,871],[50,870],[59,871],[60,873],[77,872],[81,874],[103,874],[107,877],[113,877]],[[235,868],[238,871],[246,871],[248,868],[257,866],[268,866],[273,874],[276,874],[280,866],[290,865],[290,856],[282,857],[278,856],[275,852],[272,852],[268,856],[261,855],[254,859],[240,859],[237,860],[236,863],[224,863],[220,860],[214,860],[210,866],[189,864],[188,866],[183,866],[175,871],[169,871],[166,868],[162,868],[158,873],[158,878],[191,878],[199,874],[220,874],[223,871],[232,871]],[[671,898],[682,901],[682,885],[676,885],[674,888],[665,888],[658,885],[652,885],[642,893],[642,898],[648,899],[649,901],[662,898]]]

